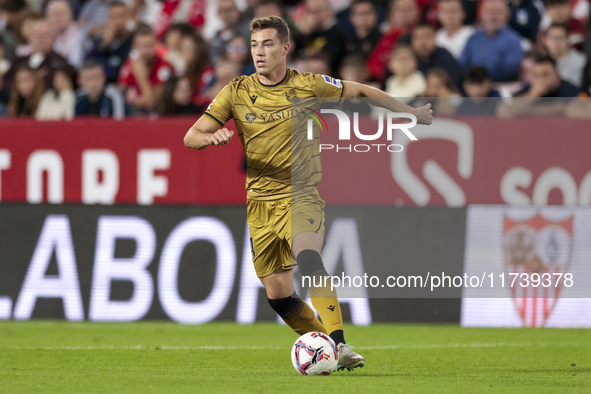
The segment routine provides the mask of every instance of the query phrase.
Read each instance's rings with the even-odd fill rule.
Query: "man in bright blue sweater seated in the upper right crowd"
[[[484,66],[495,82],[514,81],[523,58],[520,37],[507,27],[509,11],[504,0],[484,0],[482,31],[468,39],[460,58],[464,69]]]

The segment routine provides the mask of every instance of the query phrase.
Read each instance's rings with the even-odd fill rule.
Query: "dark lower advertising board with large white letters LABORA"
[[[333,275],[406,275],[417,261],[461,275],[463,208],[329,207],[326,216]],[[0,217],[2,320],[277,319],[254,272],[243,207],[3,203]],[[441,299],[341,302],[345,320],[360,325],[457,323],[461,289],[454,290]]]

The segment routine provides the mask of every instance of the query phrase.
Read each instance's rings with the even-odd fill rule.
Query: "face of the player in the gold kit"
[[[250,50],[257,73],[270,75],[278,67],[285,66],[289,43],[282,44],[275,29],[257,30],[252,33]]]

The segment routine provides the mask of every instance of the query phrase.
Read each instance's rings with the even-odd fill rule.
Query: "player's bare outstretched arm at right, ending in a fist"
[[[371,105],[386,108],[393,112],[407,112],[417,117],[418,124],[431,124],[433,121],[433,110],[431,104],[413,108],[396,100],[380,89],[373,88],[362,83],[343,81],[345,83],[345,97],[366,97]]]

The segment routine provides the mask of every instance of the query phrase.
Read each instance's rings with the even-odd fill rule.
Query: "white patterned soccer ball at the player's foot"
[[[291,349],[291,363],[302,375],[330,375],[337,369],[339,351],[326,334],[312,331],[299,337]]]

